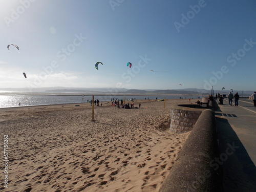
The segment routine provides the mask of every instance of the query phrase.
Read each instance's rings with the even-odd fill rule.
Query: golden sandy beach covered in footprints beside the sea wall
[[[0,189],[158,191],[189,135],[168,131],[170,105],[188,102],[135,101],[140,109],[102,102],[95,121],[90,103],[0,109],[9,160],[8,188],[2,180]],[[1,178],[4,169],[1,163]]]

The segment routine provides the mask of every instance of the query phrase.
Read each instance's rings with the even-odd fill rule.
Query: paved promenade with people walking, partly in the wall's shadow
[[[239,106],[219,105],[216,123],[225,191],[256,191],[256,108],[252,100],[240,98]]]

